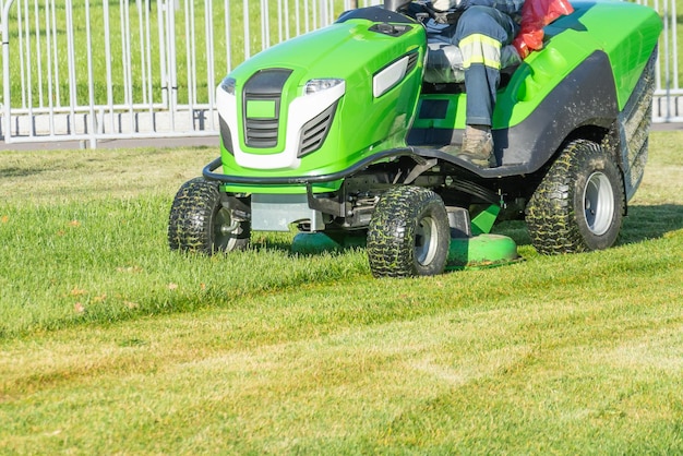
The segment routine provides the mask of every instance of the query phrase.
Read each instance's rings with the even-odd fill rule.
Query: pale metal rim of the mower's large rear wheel
[[[602,172],[594,172],[584,190],[586,225],[596,236],[604,235],[614,218],[614,192],[610,180]]]

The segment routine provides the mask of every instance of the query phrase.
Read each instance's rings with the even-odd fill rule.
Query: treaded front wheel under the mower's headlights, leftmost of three
[[[235,221],[220,203],[219,183],[195,178],[183,183],[168,217],[171,250],[213,254],[244,250],[249,245],[248,221]]]

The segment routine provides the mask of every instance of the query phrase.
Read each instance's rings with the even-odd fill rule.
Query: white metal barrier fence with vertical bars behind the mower
[[[651,2],[655,2],[654,4]],[[683,120],[675,0],[655,121]],[[0,0],[7,143],[214,135],[214,91],[255,52],[381,0]],[[681,105],[681,106],[680,106]]]

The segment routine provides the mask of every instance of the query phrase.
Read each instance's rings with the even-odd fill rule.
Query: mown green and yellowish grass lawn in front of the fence
[[[169,252],[213,148],[0,152],[0,453],[681,454],[682,143],[613,249],[403,280]]]

